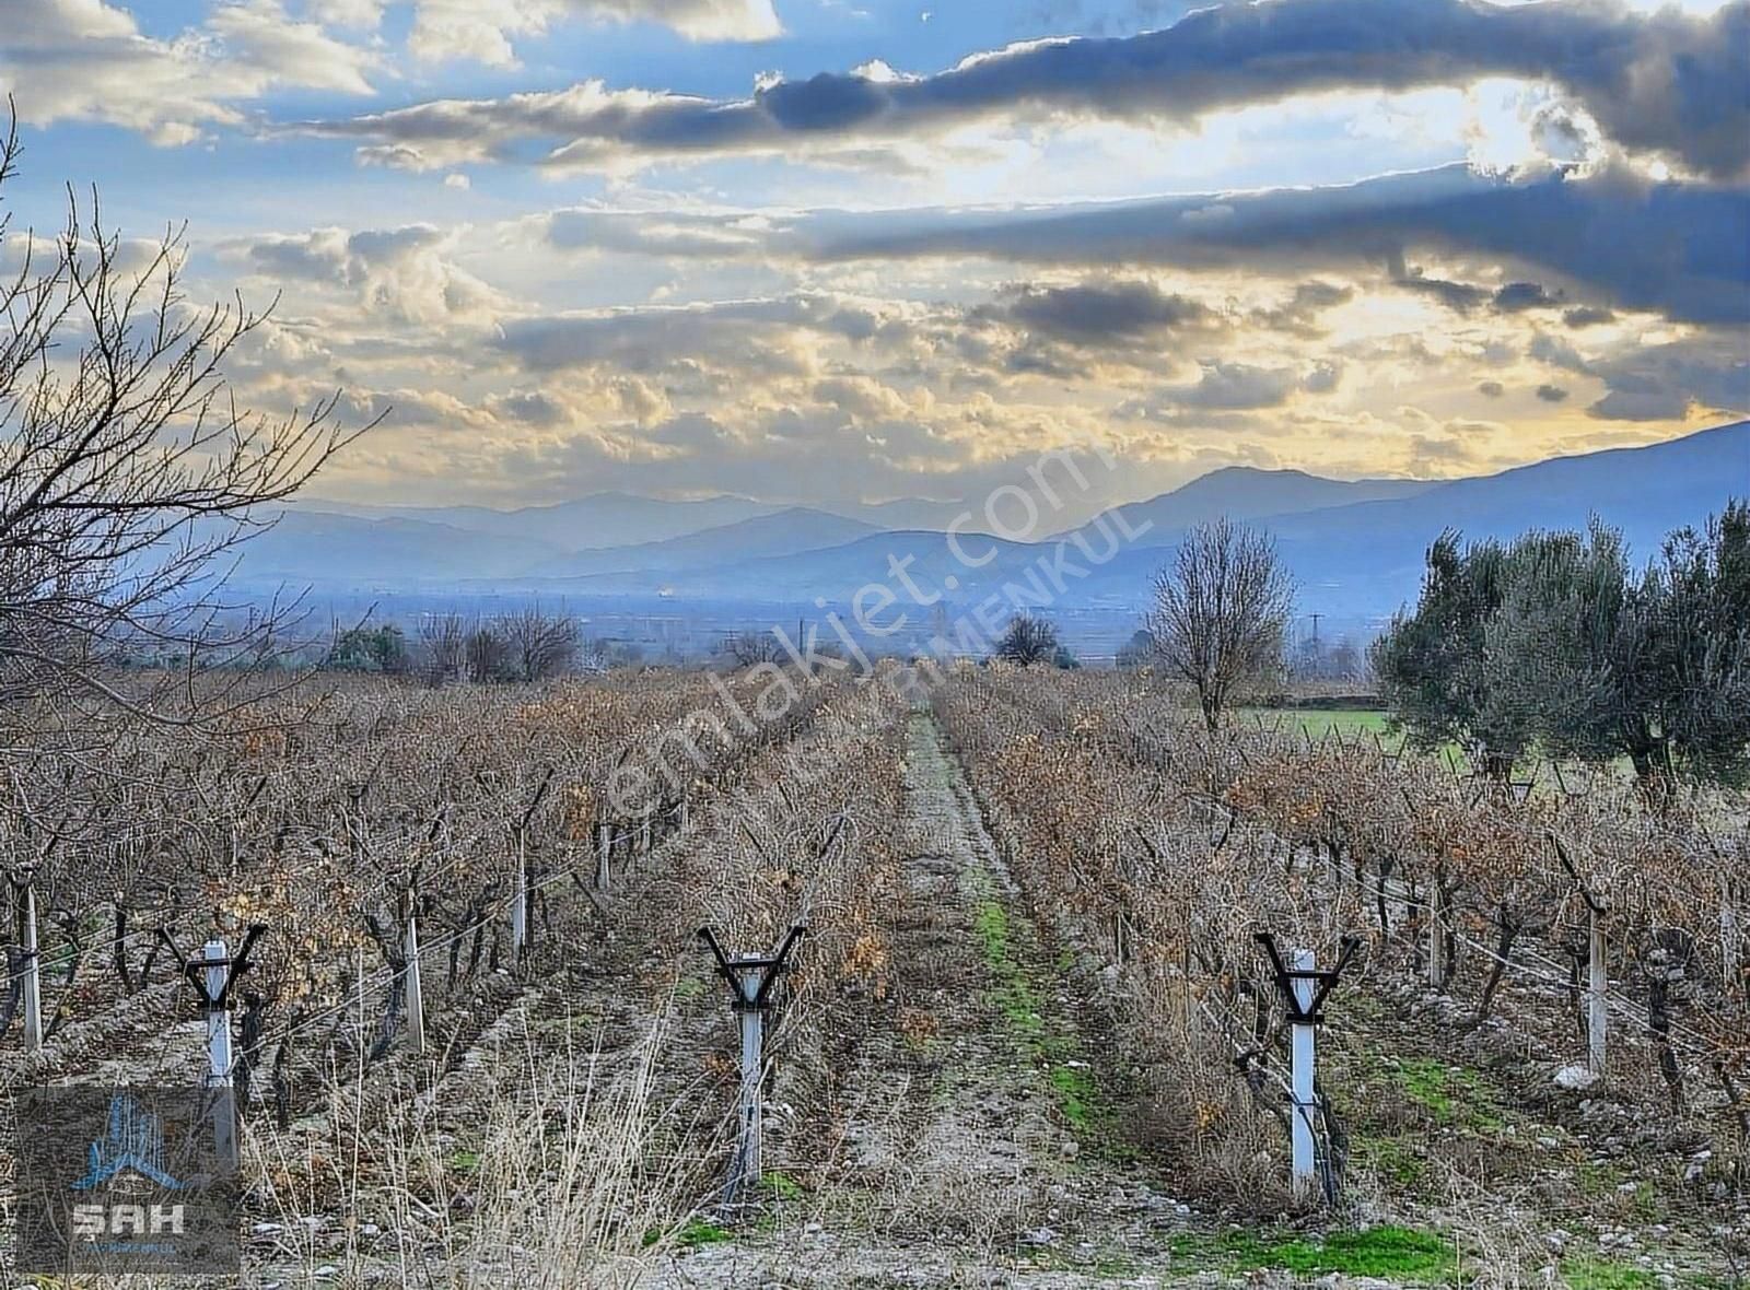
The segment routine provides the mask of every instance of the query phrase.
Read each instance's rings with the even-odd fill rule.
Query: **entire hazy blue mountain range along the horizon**
[[[814,612],[819,601],[849,607],[868,584],[910,601],[901,568],[956,612],[990,596],[1122,612],[1141,607],[1186,526],[1225,514],[1274,535],[1304,612],[1377,619],[1414,598],[1423,552],[1444,528],[1512,537],[1580,528],[1596,514],[1645,558],[1670,530],[1746,495],[1750,421],[1740,421],[1446,482],[1228,467],[1040,542],[970,537],[978,526],[966,526],[961,552],[942,530],[976,507],[952,502],[826,509],[597,493],[523,510],[306,503],[245,545],[240,575],[346,591],[662,596]]]

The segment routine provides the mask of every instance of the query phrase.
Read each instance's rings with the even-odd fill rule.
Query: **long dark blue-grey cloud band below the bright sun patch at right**
[[[791,241],[821,259],[985,255],[1281,273],[1362,262],[1454,308],[1493,294],[1418,276],[1405,255],[1488,255],[1558,274],[1619,308],[1750,322],[1750,189],[1638,185],[1614,173],[1508,182],[1447,166],[1328,189],[821,215],[794,227]]]

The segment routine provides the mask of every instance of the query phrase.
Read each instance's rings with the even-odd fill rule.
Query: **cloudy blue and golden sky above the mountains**
[[[0,0],[24,143],[268,320],[315,489],[1458,477],[1750,409],[1750,0]]]

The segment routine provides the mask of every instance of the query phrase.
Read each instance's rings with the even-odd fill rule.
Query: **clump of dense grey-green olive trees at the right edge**
[[[1393,720],[1505,778],[1526,748],[1626,759],[1654,802],[1750,774],[1750,509],[1671,533],[1636,572],[1617,530],[1428,552],[1414,612],[1376,642]]]

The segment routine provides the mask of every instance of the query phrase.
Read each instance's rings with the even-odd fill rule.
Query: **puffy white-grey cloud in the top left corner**
[[[0,86],[23,121],[100,121],[163,145],[238,126],[238,103],[280,87],[371,94],[376,66],[373,51],[292,19],[278,0],[220,3],[172,40],[105,0],[9,0],[0,38]]]

